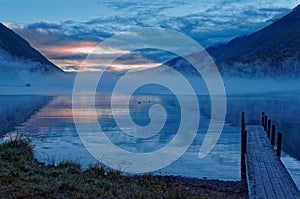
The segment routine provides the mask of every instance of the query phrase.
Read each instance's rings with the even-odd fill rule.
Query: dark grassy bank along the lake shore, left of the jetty
[[[82,170],[72,162],[44,166],[29,144],[0,145],[0,198],[246,198],[241,186],[170,176],[124,176],[100,166]]]

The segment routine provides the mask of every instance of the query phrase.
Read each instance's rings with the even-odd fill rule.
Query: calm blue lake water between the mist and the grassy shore
[[[120,102],[123,96],[119,96]],[[190,100],[185,96],[185,100]],[[16,100],[18,99],[18,100]],[[87,133],[97,132],[91,128],[90,110],[84,106],[92,98],[80,96],[82,108],[78,110],[85,118]],[[110,111],[110,98],[97,95],[96,110],[99,124],[105,135],[116,146],[131,151],[151,152],[167,145],[176,135],[180,121],[180,106],[174,96],[137,95],[131,99],[129,109],[131,117],[141,126],[150,122],[149,108],[161,104],[168,115],[161,131],[147,139],[137,139],[123,133],[114,122]],[[213,150],[205,158],[199,159],[198,153],[210,121],[210,100],[208,96],[198,96],[201,120],[196,137],[188,150],[169,166],[155,171],[162,175],[182,175],[206,177],[209,179],[240,179],[240,116],[244,111],[247,124],[260,124],[261,112],[265,111],[277,130],[283,133],[282,161],[288,168],[297,186],[300,185],[300,95],[299,93],[270,93],[253,95],[232,95],[227,97],[227,116],[222,134]],[[35,100],[35,101],[34,101]],[[15,110],[30,109],[36,111],[25,123],[15,128],[16,133],[25,133],[31,138],[36,157],[46,163],[72,160],[83,167],[97,163],[97,160],[82,144],[73,120],[72,96],[0,96],[2,121],[22,123],[24,118],[11,118]],[[4,106],[5,104],[5,106]],[[24,104],[27,104],[24,108]],[[33,110],[32,107],[34,105]],[[10,108],[3,108],[10,107]],[[37,111],[38,110],[38,111]],[[122,106],[117,113],[124,113]],[[195,107],[188,107],[191,117]],[[21,113],[26,110],[19,111]],[[21,114],[22,115],[22,114]],[[10,118],[9,118],[10,117]],[[130,128],[128,126],[127,128]],[[8,136],[8,135],[7,135]],[[6,136],[6,137],[7,137]],[[99,149],[101,150],[101,149]],[[105,156],[103,156],[105,158]],[[150,164],[150,163],[149,163]],[[155,164],[152,163],[152,164]],[[126,164],[120,168],[126,171]]]

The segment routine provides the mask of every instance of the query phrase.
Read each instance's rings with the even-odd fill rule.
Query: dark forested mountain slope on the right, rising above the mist
[[[300,5],[271,25],[208,53],[223,71],[300,74]]]

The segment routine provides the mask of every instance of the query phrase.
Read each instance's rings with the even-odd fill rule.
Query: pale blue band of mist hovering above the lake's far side
[[[192,93],[184,90],[181,84],[177,84],[177,78],[168,74],[154,74],[157,78],[164,79],[166,82],[171,82],[176,85],[181,91],[181,95],[191,95]],[[71,94],[73,91],[74,79],[76,73],[67,73],[61,75],[45,75],[45,76],[29,76],[20,79],[19,81],[9,81],[5,77],[1,79],[0,94],[41,94],[41,95],[56,95],[56,94]],[[91,90],[89,80],[99,79],[99,74],[95,72],[86,72],[84,74],[86,82],[83,83],[82,93],[95,92]],[[111,72],[103,75],[99,79],[97,87],[98,93],[110,93],[113,91],[116,82],[122,77],[122,73]],[[8,78],[10,79],[10,78]],[[134,82],[143,79],[142,74],[131,74],[124,82],[124,87],[130,87]],[[94,80],[93,80],[94,81]],[[41,83],[42,82],[42,83]],[[296,77],[240,77],[240,76],[223,76],[224,87],[227,95],[241,94],[259,94],[261,93],[276,93],[276,92],[295,92],[299,91],[300,79]],[[189,77],[189,83],[194,88],[196,94],[208,94],[205,82],[197,77]],[[30,86],[27,87],[26,85]],[[180,88],[182,87],[182,88]],[[119,90],[120,93],[126,94],[127,90]],[[164,94],[164,89],[148,86],[140,93],[145,94]]]

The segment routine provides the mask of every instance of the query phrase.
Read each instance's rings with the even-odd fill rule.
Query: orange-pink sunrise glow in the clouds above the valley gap
[[[50,48],[45,48],[43,49],[43,51],[45,54],[60,53],[65,56],[65,59],[52,59],[51,61],[66,72],[99,71],[105,68],[116,71],[129,69],[147,69],[157,67],[161,64],[152,62],[145,57],[139,57],[139,60],[133,58],[132,61],[128,60],[126,63],[118,63],[118,61],[116,61],[113,64],[107,65],[107,63],[110,63],[112,57],[114,57],[115,55],[130,54],[131,52],[111,47],[101,47],[96,43],[91,42],[84,42],[68,46],[53,46]],[[73,55],[83,55],[83,57],[88,55],[94,56],[93,58],[85,60],[84,58],[73,59]],[[70,58],[68,58],[68,56],[70,56]],[[138,63],[136,63],[136,61],[138,61]],[[74,68],[69,68],[69,66],[78,66],[79,69],[77,70]]]

